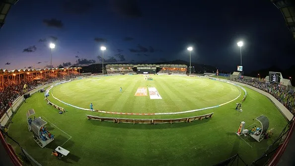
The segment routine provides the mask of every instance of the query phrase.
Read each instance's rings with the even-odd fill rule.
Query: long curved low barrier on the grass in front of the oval
[[[177,122],[192,122],[194,120],[202,120],[212,118],[214,112],[194,116],[194,117],[186,117],[186,118],[178,118],[178,119],[129,119],[129,118],[113,118],[113,117],[101,117],[101,116],[93,116],[93,115],[86,115],[87,119],[99,120],[99,121],[110,121],[114,123],[148,123],[148,124],[158,124],[158,123],[177,123]]]

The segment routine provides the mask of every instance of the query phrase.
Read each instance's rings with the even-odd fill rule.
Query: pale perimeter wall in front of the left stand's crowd
[[[58,83],[58,82],[49,83],[49,84],[45,84],[45,85],[39,86],[39,87],[37,87],[37,88],[35,88],[35,89],[29,91],[29,93],[30,93],[30,95],[32,95],[32,94],[38,92],[38,90],[43,89],[43,88],[45,88],[45,87],[47,87],[47,86],[51,86],[51,85],[53,85],[53,84],[55,84],[55,83]],[[13,113],[15,113],[15,112],[17,111],[18,107],[22,104],[23,101],[24,101],[24,97],[23,97],[23,95],[22,95],[22,96],[17,97],[17,98],[12,102],[12,109],[9,108],[9,109],[6,111],[6,113],[5,113],[5,114],[1,117],[1,119],[0,119],[0,124],[1,124],[1,126],[5,126],[5,125],[7,124],[7,122],[9,122],[9,119],[12,118]]]

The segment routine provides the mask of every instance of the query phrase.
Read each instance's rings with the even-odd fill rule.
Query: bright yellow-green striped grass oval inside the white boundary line
[[[154,113],[180,112],[216,106],[239,96],[236,86],[209,79],[142,75],[99,77],[61,84],[52,90],[55,97],[72,105],[112,112]],[[119,88],[123,92],[119,92]],[[162,99],[135,96],[139,87],[155,87]],[[147,90],[148,91],[148,90]]]

